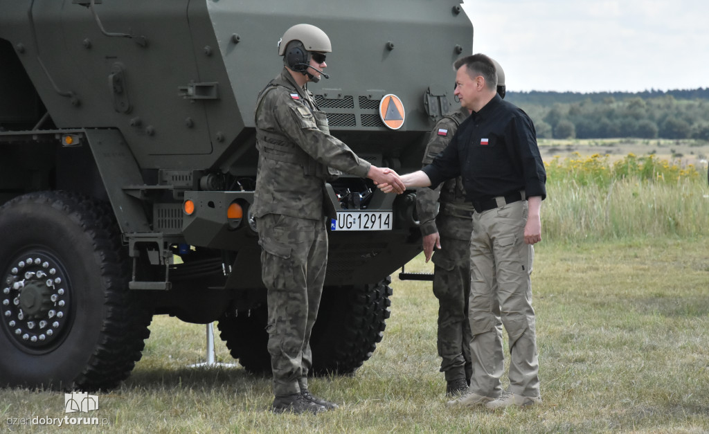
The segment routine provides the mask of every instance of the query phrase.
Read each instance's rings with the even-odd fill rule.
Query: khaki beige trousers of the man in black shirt
[[[536,320],[530,270],[534,248],[524,242],[527,202],[473,216],[469,299],[473,377],[470,390],[499,396],[504,372],[502,320],[510,349],[509,391],[540,396]]]

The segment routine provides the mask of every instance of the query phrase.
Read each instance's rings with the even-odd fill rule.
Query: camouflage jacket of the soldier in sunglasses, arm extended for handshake
[[[325,191],[328,167],[364,178],[369,162],[330,135],[325,113],[286,68],[259,93],[255,120],[259,163],[253,216],[334,218]]]

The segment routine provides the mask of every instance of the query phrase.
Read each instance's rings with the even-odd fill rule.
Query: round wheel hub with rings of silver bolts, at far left
[[[62,264],[41,252],[11,262],[0,294],[2,320],[21,345],[45,347],[55,342],[68,319],[70,291]]]

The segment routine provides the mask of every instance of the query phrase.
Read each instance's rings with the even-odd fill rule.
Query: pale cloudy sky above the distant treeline
[[[465,0],[508,91],[709,87],[707,0]]]

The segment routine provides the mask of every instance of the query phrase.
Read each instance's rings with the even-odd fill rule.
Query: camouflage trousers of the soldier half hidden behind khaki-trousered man
[[[470,223],[468,223],[469,225]],[[441,236],[441,250],[432,261],[433,295],[438,299],[438,355],[440,371],[447,382],[471,377],[470,325],[470,243]]]

